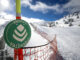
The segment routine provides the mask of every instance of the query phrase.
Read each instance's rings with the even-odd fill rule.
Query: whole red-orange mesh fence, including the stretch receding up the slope
[[[45,32],[37,30],[35,26],[33,27],[42,37],[49,41],[49,44],[36,48],[23,48],[23,60],[50,60],[51,55],[53,55],[55,60],[58,52],[56,36],[53,38],[53,41],[50,41]]]

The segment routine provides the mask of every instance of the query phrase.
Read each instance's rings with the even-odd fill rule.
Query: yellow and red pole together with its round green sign
[[[7,24],[4,29],[4,40],[8,46],[14,48],[14,60],[23,60],[23,49],[31,37],[31,28],[29,24],[21,19],[21,0],[16,2],[16,20]]]

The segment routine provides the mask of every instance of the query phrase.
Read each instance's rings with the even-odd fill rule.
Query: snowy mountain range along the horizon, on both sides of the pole
[[[12,17],[11,15],[8,15]],[[12,19],[5,19],[6,17],[0,16],[0,25],[6,23],[7,21],[11,21]],[[13,18],[15,20],[15,18]],[[22,16],[22,19],[27,21],[28,23],[37,24],[40,26],[46,27],[79,27],[80,26],[80,12],[75,12],[73,14],[69,14],[64,16],[63,18],[56,20],[56,21],[44,21],[34,18],[26,18]]]

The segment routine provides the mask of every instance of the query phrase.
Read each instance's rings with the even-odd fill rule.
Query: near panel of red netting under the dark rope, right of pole
[[[24,60],[47,60],[49,53],[53,53],[53,51],[50,50],[50,45],[38,48],[25,48],[23,52]]]

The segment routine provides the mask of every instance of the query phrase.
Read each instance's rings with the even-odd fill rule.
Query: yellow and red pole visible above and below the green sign
[[[16,0],[16,20],[21,20],[21,0]],[[14,60],[23,60],[23,49],[14,49]]]

